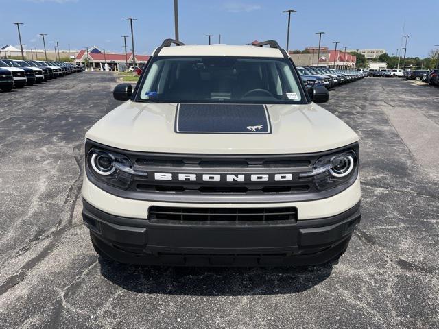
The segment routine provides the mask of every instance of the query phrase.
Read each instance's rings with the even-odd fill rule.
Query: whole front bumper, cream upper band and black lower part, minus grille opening
[[[150,221],[152,205],[195,206],[123,199],[84,178],[83,219],[103,254],[143,265],[315,265],[346,249],[360,220],[359,179],[327,199],[288,204],[215,204],[221,207],[295,206],[288,223],[193,223]],[[212,204],[196,204],[209,207]]]

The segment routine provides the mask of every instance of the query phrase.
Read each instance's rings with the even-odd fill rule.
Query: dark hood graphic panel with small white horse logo
[[[176,132],[182,134],[271,134],[262,104],[179,104]]]

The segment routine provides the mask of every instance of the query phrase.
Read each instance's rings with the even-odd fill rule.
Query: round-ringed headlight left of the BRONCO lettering
[[[88,151],[86,169],[96,180],[123,189],[130,186],[134,175],[147,175],[135,171],[128,157],[96,147]]]

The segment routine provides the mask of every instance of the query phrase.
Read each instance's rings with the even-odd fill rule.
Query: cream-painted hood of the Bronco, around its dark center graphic
[[[95,123],[86,138],[131,151],[188,154],[298,154],[327,151],[358,141],[348,125],[315,103],[262,107],[270,121],[267,131],[254,130],[257,123],[250,118],[248,126],[244,125],[245,133],[219,134],[202,132],[206,123],[198,121],[193,114],[196,112],[184,119],[189,121],[189,130],[198,122],[204,125],[199,132],[178,132],[176,103],[126,101]],[[212,121],[207,125],[214,126]],[[239,115],[236,120],[229,115],[228,121],[232,126],[235,121],[244,123]]]

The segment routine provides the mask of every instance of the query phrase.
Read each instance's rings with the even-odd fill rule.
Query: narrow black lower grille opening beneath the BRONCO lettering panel
[[[296,207],[279,208],[185,208],[151,206],[150,221],[273,222],[297,221]]]

